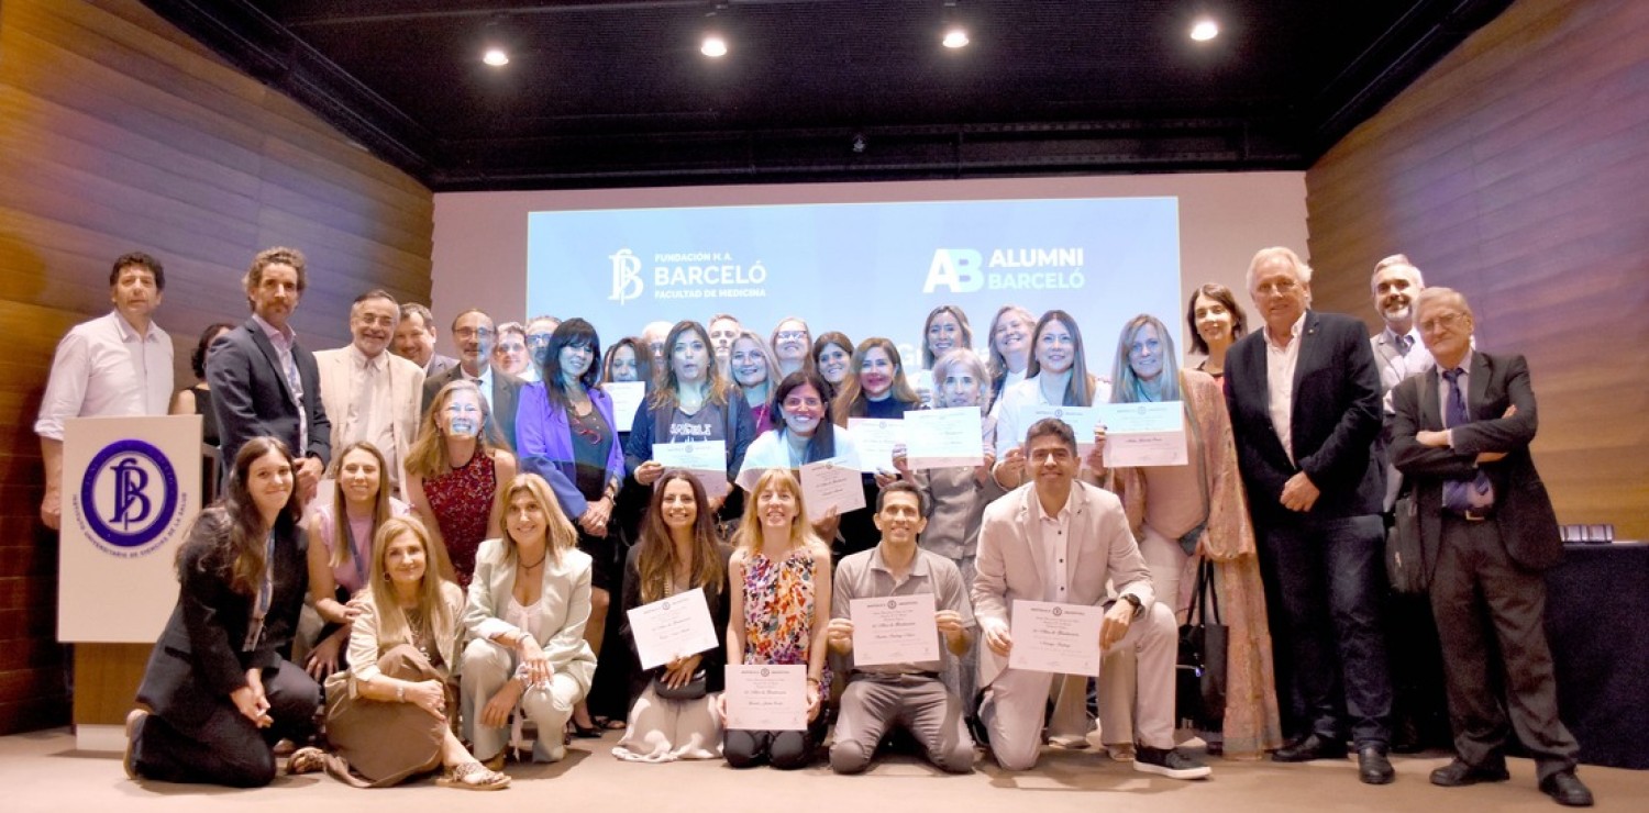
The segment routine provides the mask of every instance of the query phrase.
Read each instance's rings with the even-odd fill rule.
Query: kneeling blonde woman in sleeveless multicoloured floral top
[[[775,768],[801,768],[823,734],[820,711],[829,696],[829,546],[813,534],[801,485],[790,470],[768,468],[750,493],[727,562],[727,663],[806,665],[808,721],[816,724],[808,731],[727,731],[722,755],[735,768],[763,760]]]

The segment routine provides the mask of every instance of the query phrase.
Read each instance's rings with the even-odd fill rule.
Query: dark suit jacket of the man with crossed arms
[[[1543,571],[1563,559],[1563,539],[1545,483],[1535,472],[1529,444],[1540,421],[1535,392],[1529,384],[1524,356],[1482,351],[1471,355],[1471,391],[1466,411],[1471,422],[1454,427],[1453,449],[1425,447],[1420,430],[1441,430],[1440,373],[1428,369],[1392,391],[1392,463],[1408,478],[1420,513],[1420,539],[1426,562],[1436,562],[1443,547],[1443,480],[1476,477],[1479,452],[1506,452],[1482,470],[1494,483],[1494,523],[1512,561],[1529,571]],[[1502,417],[1506,407],[1517,414]]]

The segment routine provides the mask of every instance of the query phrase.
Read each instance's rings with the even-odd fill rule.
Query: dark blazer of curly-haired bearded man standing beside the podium
[[[206,381],[211,383],[211,406],[223,439],[226,482],[234,468],[234,455],[247,440],[261,435],[279,437],[300,460],[318,457],[322,465],[331,460],[331,421],[320,401],[320,368],[315,366],[315,356],[298,345],[292,346],[292,360],[303,384],[303,414],[308,421],[308,445],[302,449],[297,399],[292,397],[280,356],[264,328],[247,318],[213,345],[206,358]]]

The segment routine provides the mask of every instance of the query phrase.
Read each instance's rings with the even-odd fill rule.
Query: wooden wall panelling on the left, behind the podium
[[[109,262],[167,266],[157,322],[176,383],[209,322],[246,318],[259,249],[310,259],[294,318],[348,341],[371,287],[429,302],[434,200],[297,102],[229,68],[139,0],[0,3],[0,734],[68,719],[58,539],[38,521],[33,422],[58,338],[109,308]],[[119,607],[110,607],[119,612]],[[127,670],[130,671],[130,670]],[[122,676],[129,681],[130,676]]]

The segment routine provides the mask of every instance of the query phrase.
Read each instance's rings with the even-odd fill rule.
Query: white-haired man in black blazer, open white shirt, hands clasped
[[[1278,762],[1346,755],[1392,782],[1392,684],[1380,620],[1380,374],[1360,322],[1308,310],[1311,266],[1285,247],[1248,264],[1265,328],[1225,358],[1225,399],[1260,539],[1273,630],[1291,676],[1294,739]]]

